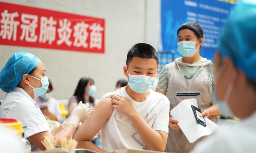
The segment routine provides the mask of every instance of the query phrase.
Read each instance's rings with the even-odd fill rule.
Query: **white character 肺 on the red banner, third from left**
[[[56,25],[57,21],[53,20],[53,17],[50,17],[49,20],[47,17],[41,17],[40,22],[40,35],[39,42],[45,43],[48,41],[48,44],[51,45],[55,41],[56,36]]]

